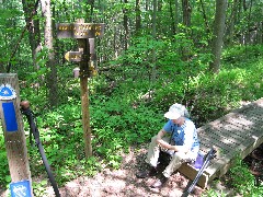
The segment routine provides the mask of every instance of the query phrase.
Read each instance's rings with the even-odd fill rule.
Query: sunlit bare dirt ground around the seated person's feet
[[[144,167],[146,149],[124,155],[121,170],[105,170],[94,177],[80,177],[60,188],[61,197],[176,197],[181,196],[188,179],[174,173],[161,188],[151,188],[157,177],[137,178],[135,173]],[[160,169],[161,170],[161,169]],[[203,189],[195,187],[192,196],[201,196]]]

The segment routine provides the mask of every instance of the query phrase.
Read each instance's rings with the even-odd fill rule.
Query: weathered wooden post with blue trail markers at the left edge
[[[0,118],[12,179],[12,184],[10,184],[11,194],[31,197],[33,196],[31,172],[20,113],[19,80],[16,74],[0,73]]]

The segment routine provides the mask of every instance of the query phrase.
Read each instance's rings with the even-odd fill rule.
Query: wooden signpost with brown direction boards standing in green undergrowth
[[[89,92],[88,78],[91,76],[90,60],[94,51],[95,37],[102,37],[104,34],[104,24],[102,23],[84,23],[83,19],[77,20],[76,23],[59,23],[57,27],[58,38],[76,38],[78,40],[79,51],[68,51],[65,58],[68,61],[79,62],[79,77],[81,90],[81,112],[82,127],[84,138],[85,157],[92,155],[91,147],[91,128],[89,113]],[[90,45],[91,43],[91,45]],[[93,56],[92,56],[93,57]]]

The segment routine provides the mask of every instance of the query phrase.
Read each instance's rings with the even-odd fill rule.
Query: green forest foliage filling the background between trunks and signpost
[[[231,5],[233,1],[230,1]],[[232,46],[224,50],[222,69],[218,74],[207,73],[211,61],[209,42],[214,21],[215,1],[192,1],[191,26],[174,24],[174,19],[168,18],[170,12],[179,13],[182,10],[167,1],[160,1],[157,9],[157,37],[151,36],[152,10],[148,4],[140,4],[141,34],[134,36],[135,2],[119,3],[115,1],[95,1],[92,22],[104,22],[106,31],[104,37],[96,42],[96,51],[102,63],[111,61],[117,66],[110,72],[101,72],[100,77],[89,80],[90,116],[92,129],[92,147],[94,157],[85,160],[84,142],[81,121],[81,104],[79,80],[71,79],[71,70],[76,65],[62,62],[64,54],[75,50],[77,40],[59,39],[54,42],[59,59],[58,85],[60,104],[55,108],[48,107],[44,77],[47,49],[44,47],[37,54],[36,70],[31,58],[28,33],[19,43],[18,53],[11,59],[13,72],[18,72],[22,100],[32,103],[31,108],[37,115],[41,139],[58,184],[81,175],[92,176],[102,167],[118,167],[122,153],[130,146],[140,146],[149,142],[150,138],[165,121],[163,113],[174,103],[183,103],[191,111],[192,118],[197,126],[214,120],[227,112],[240,106],[240,102],[254,101],[263,95],[263,59],[262,45]],[[54,22],[73,22],[78,18],[90,18],[91,7],[87,2],[75,0],[54,0]],[[228,16],[232,14],[231,7]],[[242,12],[236,20],[235,34],[244,35],[248,28],[258,27],[262,16],[262,2],[256,0],[251,9]],[[249,4],[247,3],[247,7]],[[10,60],[10,56],[24,28],[24,13],[21,1],[3,1],[0,4],[0,69]],[[251,13],[250,13],[251,12]],[[65,14],[67,13],[67,15]],[[117,13],[117,14],[116,14]],[[125,30],[124,13],[128,16],[128,49],[123,51]],[[26,14],[26,13],[25,13]],[[175,15],[174,15],[175,16]],[[236,18],[235,15],[231,18]],[[178,15],[176,15],[178,18]],[[39,19],[41,30],[43,18],[41,11],[35,20]],[[230,20],[230,19],[228,19]],[[85,21],[90,22],[90,21]],[[229,21],[228,21],[229,22]],[[43,32],[41,32],[43,35]],[[248,35],[245,35],[248,36]],[[44,37],[42,36],[42,43]],[[102,47],[103,46],[103,47]],[[155,53],[153,53],[155,51]],[[119,56],[123,54],[123,56]],[[116,58],[118,57],[118,58]],[[155,58],[153,58],[155,57]],[[104,65],[103,65],[104,66]],[[121,67],[119,67],[121,66]],[[155,76],[156,74],[156,76]],[[28,125],[25,124],[28,144]],[[28,147],[30,164],[33,176],[43,175],[45,169],[35,147]],[[0,132],[0,185],[10,183],[8,161],[4,149],[3,135]],[[243,170],[240,166],[239,170]],[[238,173],[238,170],[237,172]],[[244,173],[252,189],[252,176]],[[235,179],[238,185],[239,179]],[[45,196],[43,189],[46,181],[34,183],[35,196]],[[241,189],[244,189],[242,186]],[[7,187],[5,187],[7,188]],[[247,193],[245,193],[247,194]],[[209,192],[214,196],[214,192]]]

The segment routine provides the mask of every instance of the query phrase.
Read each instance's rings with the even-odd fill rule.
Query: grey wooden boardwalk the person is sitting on
[[[210,162],[197,185],[206,187],[215,177],[221,177],[239,154],[241,159],[263,143],[263,99],[218,118],[197,129],[201,151],[207,153],[209,144],[218,149],[218,157]],[[197,170],[183,164],[179,172],[194,179]]]

